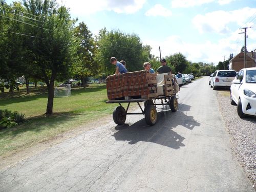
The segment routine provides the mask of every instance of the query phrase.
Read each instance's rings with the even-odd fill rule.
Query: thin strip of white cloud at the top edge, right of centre
[[[229,4],[236,0],[219,0],[219,5]],[[216,0],[173,0],[172,1],[172,7],[173,8],[186,8],[186,7],[194,7],[194,6],[200,6],[207,3],[214,3]]]

